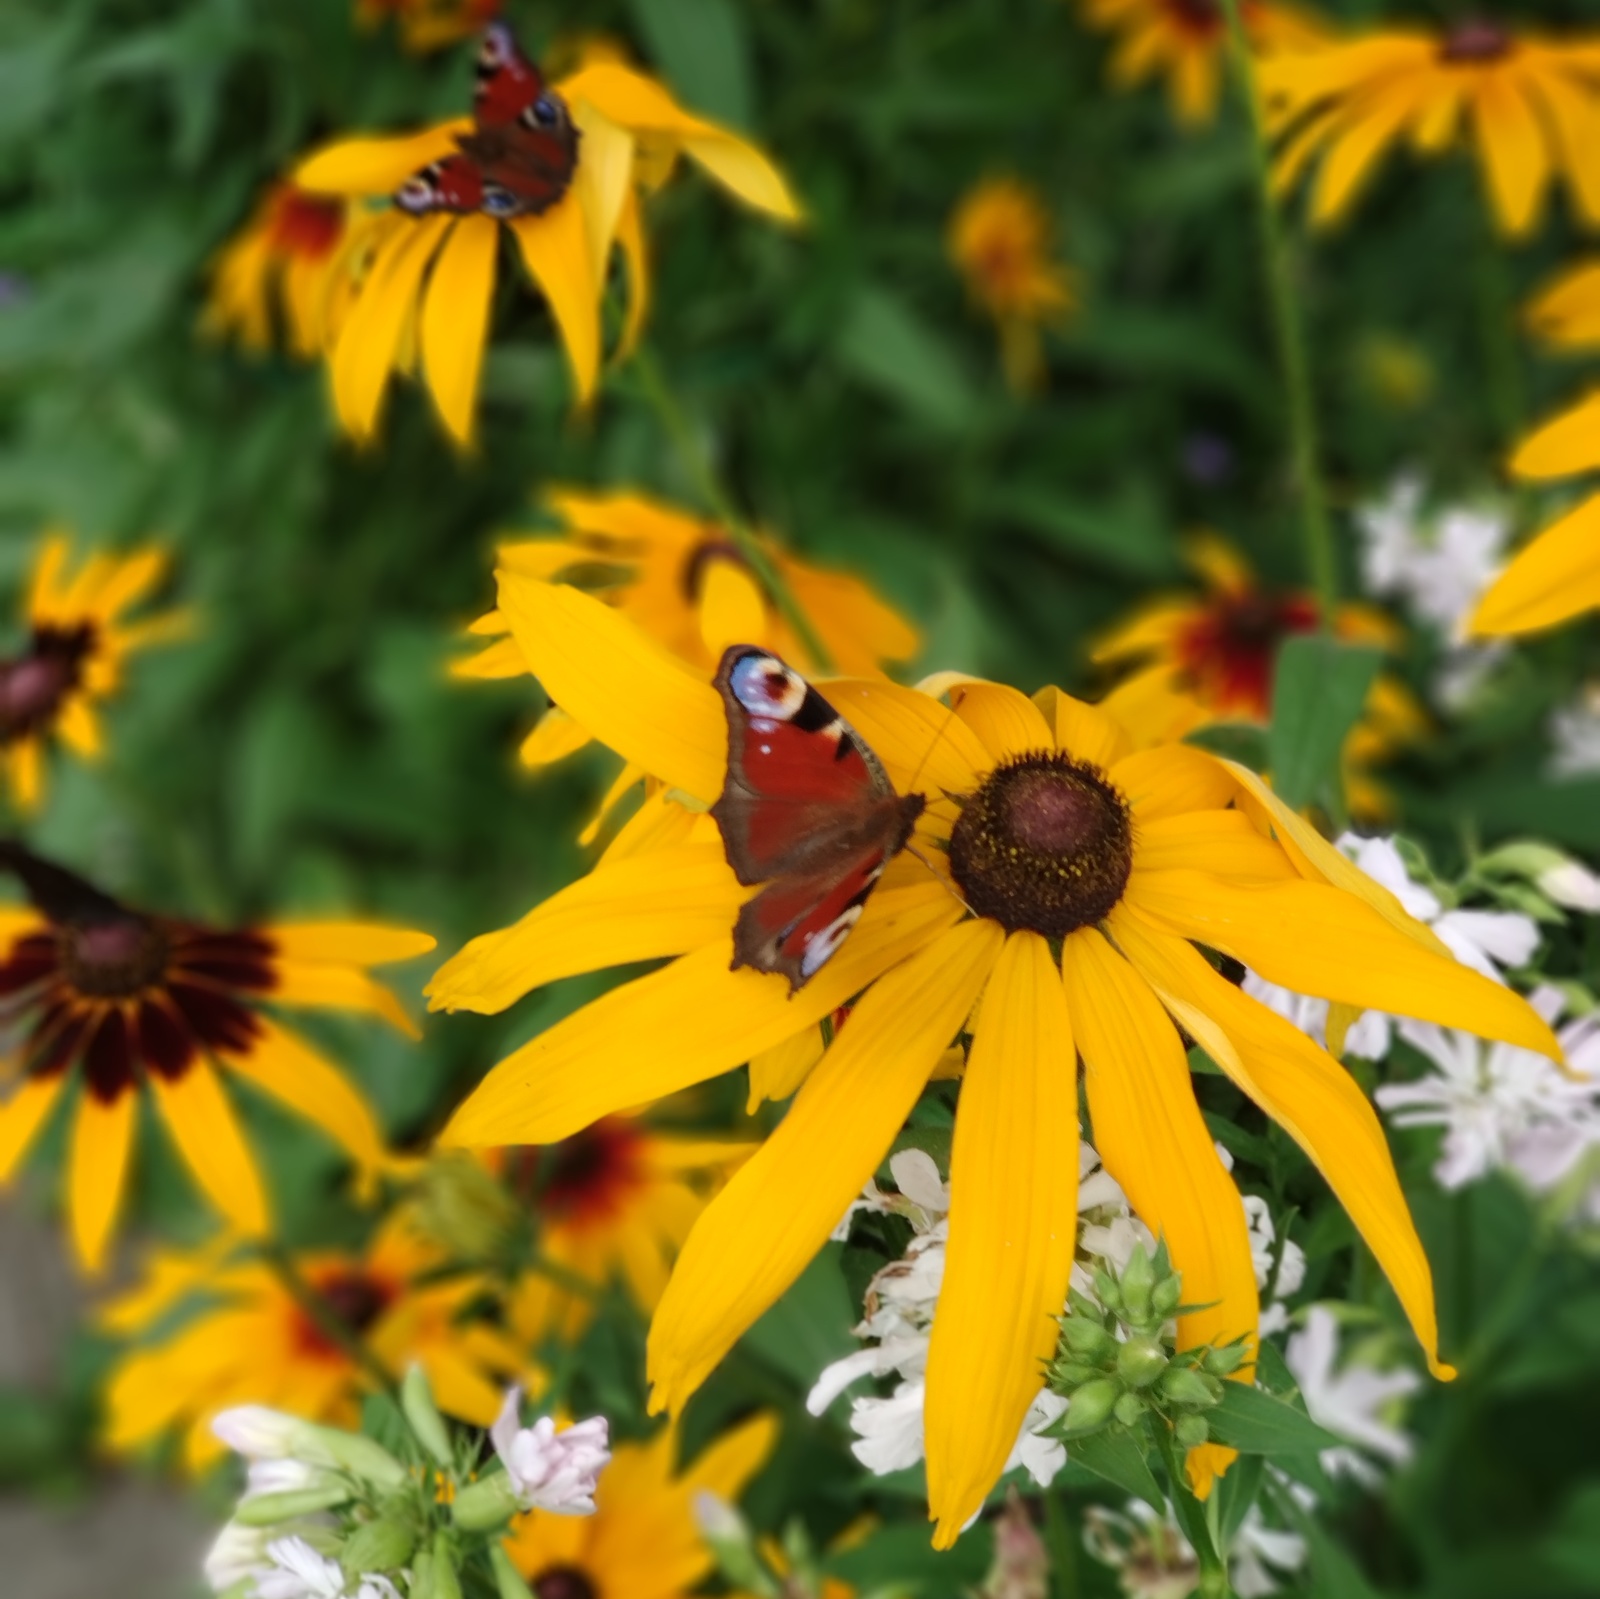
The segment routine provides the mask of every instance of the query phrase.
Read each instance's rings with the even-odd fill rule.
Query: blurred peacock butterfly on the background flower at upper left
[[[498,221],[547,211],[578,168],[578,128],[566,101],[522,53],[504,22],[491,22],[478,50],[470,133],[459,154],[432,162],[395,190],[411,216],[482,211]]]

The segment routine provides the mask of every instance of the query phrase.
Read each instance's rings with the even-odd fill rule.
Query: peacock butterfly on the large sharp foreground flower
[[[728,778],[710,813],[734,877],[766,887],[739,911],[733,968],[795,992],[861,919],[926,799],[896,794],[861,735],[776,655],[730,645],[717,667]]]

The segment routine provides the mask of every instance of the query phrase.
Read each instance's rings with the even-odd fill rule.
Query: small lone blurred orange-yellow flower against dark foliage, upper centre
[[[966,291],[1000,330],[1000,359],[1016,392],[1043,376],[1038,328],[1072,307],[1072,279],[1050,256],[1050,214],[1019,178],[986,178],[970,189],[946,232]]]

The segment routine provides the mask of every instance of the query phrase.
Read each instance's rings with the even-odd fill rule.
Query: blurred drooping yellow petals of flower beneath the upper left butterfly
[[[490,42],[502,38],[504,30],[490,30]],[[486,42],[491,48],[515,46]],[[371,271],[330,351],[334,405],[354,437],[370,439],[378,427],[390,371],[421,368],[446,429],[470,442],[502,226],[550,307],[582,403],[600,375],[600,304],[613,250],[627,259],[626,351],[648,303],[642,197],[666,182],[680,155],[755,210],[798,221],[789,186],[760,150],[683,110],[640,72],[587,66],[546,90],[539,104],[554,125],[570,118],[576,130],[570,178],[541,179],[555,192],[541,210],[507,214],[504,224],[486,211],[414,216],[398,205],[378,218]],[[427,186],[437,163],[462,158],[462,138],[477,146],[485,134],[458,117],[400,138],[344,139],[301,163],[294,182],[314,194],[390,200],[411,182]],[[506,194],[494,189],[493,198],[510,203],[499,200]]]

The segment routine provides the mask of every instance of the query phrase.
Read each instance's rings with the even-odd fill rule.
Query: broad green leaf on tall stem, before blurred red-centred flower
[[[1285,640],[1272,675],[1267,760],[1285,805],[1342,808],[1339,751],[1366,704],[1381,651],[1325,634]]]

